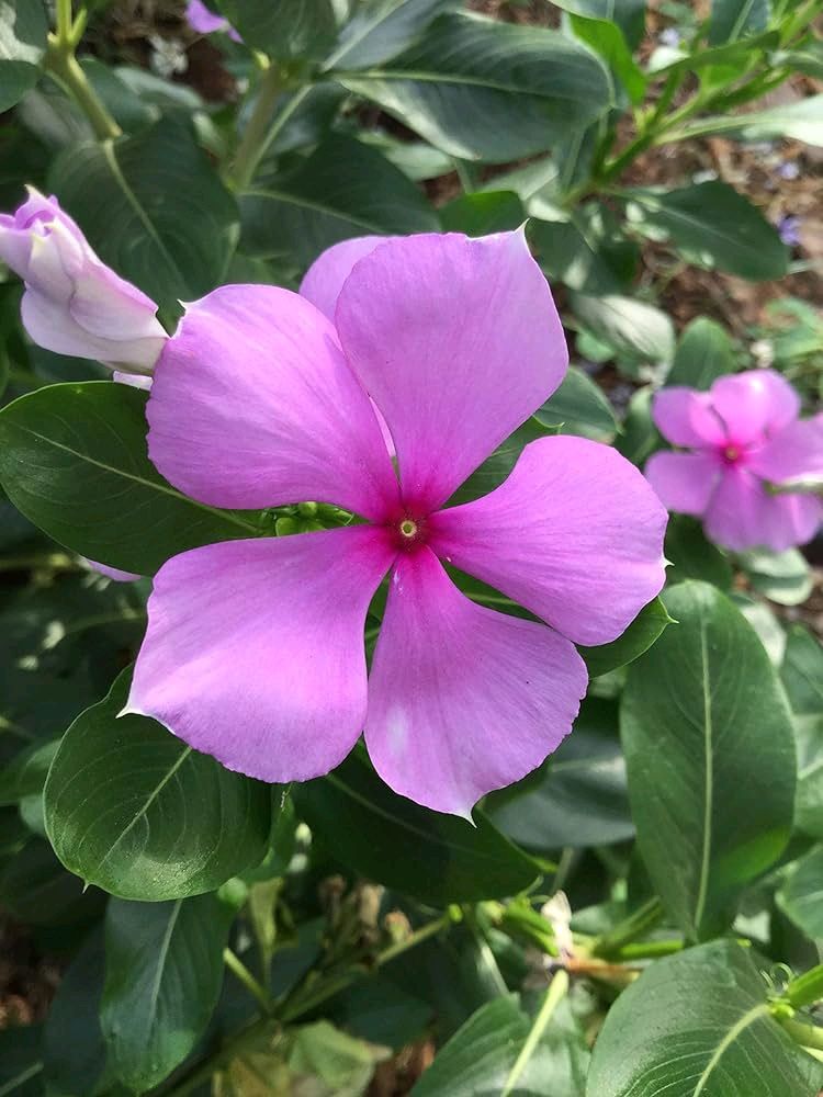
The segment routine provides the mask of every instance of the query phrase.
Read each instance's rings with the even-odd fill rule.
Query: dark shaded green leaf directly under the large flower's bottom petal
[[[295,788],[294,798],[343,864],[433,906],[514,895],[539,875],[482,812],[473,827],[420,807],[392,792],[357,751],[327,777]],[[397,856],[412,848],[414,857]]]

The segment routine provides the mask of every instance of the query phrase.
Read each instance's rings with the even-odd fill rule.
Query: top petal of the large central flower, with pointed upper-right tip
[[[385,416],[404,501],[441,506],[557,387],[566,343],[523,234],[390,240],[340,292],[346,357]]]

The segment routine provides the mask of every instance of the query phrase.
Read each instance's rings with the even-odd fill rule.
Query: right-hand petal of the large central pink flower
[[[666,520],[616,450],[559,434],[489,495],[433,514],[429,544],[576,644],[606,644],[663,587]]]

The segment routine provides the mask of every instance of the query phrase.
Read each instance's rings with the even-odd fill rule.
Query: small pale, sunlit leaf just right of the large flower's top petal
[[[591,297],[573,293],[571,301],[577,319],[617,354],[653,363],[670,362],[674,358],[674,327],[659,308],[618,294]]]

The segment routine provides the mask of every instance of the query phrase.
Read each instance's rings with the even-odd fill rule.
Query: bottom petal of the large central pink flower
[[[395,792],[470,818],[572,728],[586,668],[545,625],[475,606],[431,551],[402,555],[369,679],[365,742]]]

